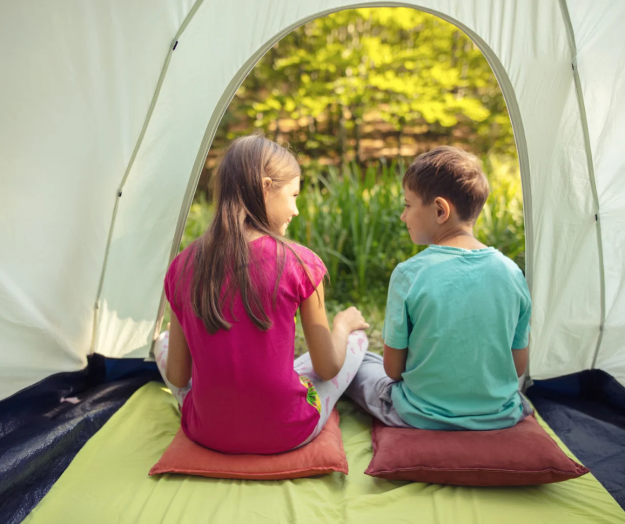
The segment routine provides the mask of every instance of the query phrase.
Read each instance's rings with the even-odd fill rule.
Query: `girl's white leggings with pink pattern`
[[[327,419],[329,418],[332,409],[347,389],[347,386],[349,386],[351,381],[354,380],[354,376],[356,376],[356,372],[362,363],[362,359],[364,358],[368,347],[369,340],[367,340],[367,335],[364,331],[354,331],[351,333],[351,335],[347,338],[345,362],[343,363],[339,374],[332,378],[332,380],[321,380],[321,378],[315,374],[312,370],[311,358],[308,353],[304,353],[304,355],[296,358],[293,363],[294,370],[298,375],[311,381],[317,392],[317,396],[319,396],[319,399],[321,400],[319,422],[314,428],[314,431],[312,431],[311,435],[304,440],[300,446],[309,443],[313,438],[319,435],[321,430],[326,426]],[[189,380],[189,383],[184,386],[184,388],[177,388],[167,380],[165,370],[167,366],[168,348],[169,332],[164,331],[158,336],[154,343],[154,358],[156,359],[156,365],[161,372],[161,376],[163,377],[165,384],[168,386],[174,398],[178,401],[178,404],[182,406],[184,397],[187,393],[189,393],[192,385]]]

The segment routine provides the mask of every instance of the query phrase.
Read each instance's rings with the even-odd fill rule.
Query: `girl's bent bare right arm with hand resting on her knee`
[[[318,294],[318,295],[317,295]],[[323,282],[299,305],[306,345],[311,356],[312,370],[321,380],[332,380],[343,366],[347,336],[355,330],[369,327],[359,310],[352,306],[337,313],[332,331],[327,322]]]

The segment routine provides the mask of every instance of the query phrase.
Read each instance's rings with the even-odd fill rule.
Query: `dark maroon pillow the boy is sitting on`
[[[459,486],[526,486],[589,470],[568,458],[533,415],[512,428],[432,431],[389,428],[374,419],[367,475]]]

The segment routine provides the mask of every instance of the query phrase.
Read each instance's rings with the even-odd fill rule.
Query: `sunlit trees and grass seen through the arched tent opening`
[[[486,59],[449,23],[407,8],[352,9],[302,26],[256,65],[222,119],[181,249],[211,219],[211,174],[236,136],[261,129],[302,166],[289,236],[327,266],[330,318],[357,305],[381,348],[386,288],[397,263],[422,247],[399,221],[401,178],[422,151],[451,144],[477,154],[491,195],[476,236],[524,268],[516,148]],[[304,348],[301,331],[297,347]]]

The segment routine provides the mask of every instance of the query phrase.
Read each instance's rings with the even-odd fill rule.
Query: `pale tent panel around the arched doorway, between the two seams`
[[[571,49],[559,5],[534,2],[524,4],[520,9],[512,3],[493,6],[486,0],[471,5],[451,1],[401,5],[431,11],[454,21],[469,36],[483,42],[491,64],[493,57],[501,64],[501,69],[495,64],[496,73],[503,79],[502,86],[509,82],[512,87],[512,93],[507,93],[509,106],[514,108],[514,102],[518,106],[516,118],[515,111],[511,114],[513,121],[517,121],[517,143],[524,142],[524,147],[519,148],[521,162],[526,163],[526,169],[522,171],[524,186],[531,188],[530,191],[526,189],[525,195],[526,203],[531,204],[527,223],[532,224],[527,229],[527,266],[531,270],[534,296],[531,374],[546,378],[589,368],[601,324],[597,308],[601,303],[601,287],[595,206],[571,71]],[[346,8],[348,4],[334,1],[324,6],[327,8],[324,12],[316,11],[310,5],[283,3],[280,9],[276,7],[267,9],[261,2],[249,9],[242,0],[229,3],[226,8],[202,3],[181,35],[156,106],[163,105],[171,111],[163,114],[155,111],[146,133],[146,144],[151,143],[150,136],[162,142],[157,148],[151,148],[158,149],[154,154],[159,160],[153,168],[138,170],[136,176],[129,178],[129,184],[143,184],[144,187],[154,182],[159,186],[166,184],[163,199],[187,196],[183,213],[180,208],[169,206],[159,214],[159,230],[152,231],[154,238],[173,238],[174,224],[186,216],[184,211],[190,204],[191,195],[189,188],[194,187],[201,166],[197,160],[206,154],[211,143],[218,122],[215,115],[224,111],[236,90],[238,82],[233,79],[242,81],[251,64],[255,63],[254,58],[259,58],[262,51],[285,32],[329,11]],[[249,34],[250,38],[245,42],[237,41],[239,34]],[[204,59],[205,49],[217,50],[211,61]],[[181,81],[180,78],[192,81]],[[545,89],[547,79],[549,89]],[[192,115],[185,109],[189,106],[194,108]],[[206,122],[211,122],[209,128],[204,127]],[[524,131],[522,136],[519,129]],[[183,131],[186,133],[184,144],[167,144],[162,138],[163,134]],[[139,151],[139,155],[142,153],[146,158],[154,158],[153,151],[147,154]],[[183,154],[184,158],[178,158]],[[194,173],[191,172],[193,167]],[[180,178],[168,179],[173,172],[181,173]],[[189,173],[191,181],[187,178]],[[143,183],[141,179],[144,179]],[[144,211],[139,209],[138,203],[128,199],[126,206],[131,204],[129,226],[136,229],[143,221]],[[161,208],[165,206],[161,204]],[[128,224],[123,227],[129,228]],[[146,296],[137,300],[133,311],[114,318],[106,330],[99,330],[102,336],[98,338],[96,351],[113,355],[127,351],[143,353],[148,351],[151,343],[154,323],[146,322],[144,327],[134,331],[132,339],[124,339],[124,333],[128,333],[128,325],[136,328],[138,323],[134,319],[153,318],[161,298],[158,290],[166,269],[163,259],[158,257],[171,254],[172,243],[154,246],[159,249],[158,257],[157,252],[152,251],[155,256],[148,258],[145,257],[148,253],[146,246],[141,243],[111,247],[111,271],[106,275],[103,300],[116,297],[115,301],[124,301],[128,305],[124,291],[131,281],[141,283],[141,288],[154,293],[149,300]],[[114,253],[116,249],[118,253]],[[143,258],[139,251],[143,251]],[[125,263],[128,260],[141,263],[129,265]],[[118,272],[118,267],[123,271]],[[106,315],[103,315],[103,321],[106,321]]]

